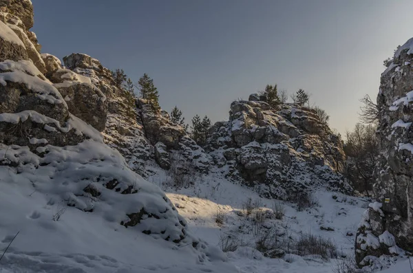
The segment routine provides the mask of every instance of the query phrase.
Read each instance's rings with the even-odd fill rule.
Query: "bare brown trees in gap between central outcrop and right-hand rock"
[[[373,169],[379,155],[379,143],[374,125],[356,124],[354,131],[346,132],[344,152],[347,155],[346,176],[352,186],[361,192],[372,189]]]

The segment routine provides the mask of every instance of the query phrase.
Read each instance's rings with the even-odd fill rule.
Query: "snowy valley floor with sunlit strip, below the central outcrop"
[[[239,244],[235,252],[227,252],[229,261],[241,272],[333,272],[336,259],[323,259],[320,256],[286,254],[280,259],[265,257],[257,251],[256,227],[248,226],[242,212],[248,199],[260,204],[263,211],[271,212],[275,202],[282,203],[285,215],[281,220],[267,219],[264,226],[277,226],[286,232],[282,241],[291,237],[297,241],[302,234],[314,234],[331,239],[337,246],[337,255],[352,256],[354,239],[361,215],[368,201],[360,197],[350,197],[340,193],[317,191],[313,198],[318,206],[297,211],[296,204],[265,199],[251,188],[233,184],[213,175],[202,177],[193,188],[176,190],[165,188],[167,196],[187,219],[193,233],[211,245],[222,246],[222,239],[229,234]],[[224,222],[217,223],[217,215],[224,215]],[[240,228],[242,227],[242,228]],[[333,231],[321,230],[330,228]],[[282,233],[282,232],[281,232]],[[293,252],[293,250],[291,251]]]

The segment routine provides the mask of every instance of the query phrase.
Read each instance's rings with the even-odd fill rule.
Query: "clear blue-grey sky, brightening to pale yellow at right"
[[[237,98],[277,83],[303,88],[340,133],[376,98],[383,60],[413,36],[411,0],[32,0],[42,52],[81,52],[134,81],[160,106],[227,120]]]

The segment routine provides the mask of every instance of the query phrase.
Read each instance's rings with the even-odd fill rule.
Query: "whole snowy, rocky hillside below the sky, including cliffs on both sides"
[[[41,53],[33,24],[0,0],[1,273],[407,268],[412,41],[381,78],[374,200],[315,109],[251,94],[197,144],[98,59]]]

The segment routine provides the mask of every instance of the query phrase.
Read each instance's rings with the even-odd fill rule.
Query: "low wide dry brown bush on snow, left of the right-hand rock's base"
[[[333,241],[310,233],[302,234],[296,247],[300,256],[320,255],[324,259],[337,256],[337,247]]]

